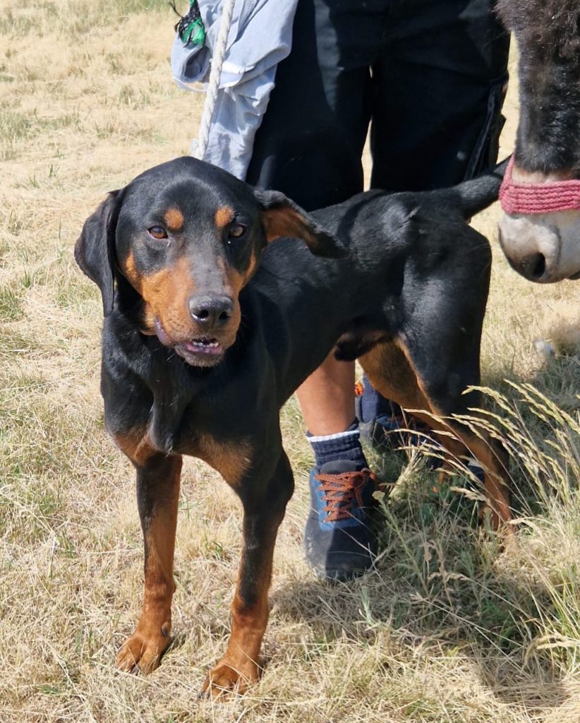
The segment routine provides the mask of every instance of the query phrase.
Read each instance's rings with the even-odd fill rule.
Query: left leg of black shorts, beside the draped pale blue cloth
[[[376,0],[378,1],[378,0]],[[383,1],[383,0],[381,0]],[[282,191],[306,210],[363,189],[371,118],[372,27],[356,0],[299,0],[293,49],[276,71],[246,181]],[[349,24],[354,16],[355,22]],[[360,27],[360,30],[357,28]],[[355,35],[365,34],[361,54]],[[378,49],[380,34],[374,38]]]

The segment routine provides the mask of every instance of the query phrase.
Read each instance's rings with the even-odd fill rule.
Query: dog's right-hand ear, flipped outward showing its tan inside
[[[279,191],[255,189],[256,199],[261,205],[261,222],[268,243],[280,236],[303,239],[316,256],[340,258],[346,250],[337,239],[319,226],[305,210],[296,205]]]

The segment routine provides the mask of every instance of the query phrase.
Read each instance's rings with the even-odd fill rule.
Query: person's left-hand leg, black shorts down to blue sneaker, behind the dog
[[[361,156],[371,117],[369,67],[380,50],[376,19],[386,1],[361,7],[358,0],[299,0],[293,51],[277,69],[248,183],[280,190],[306,210],[362,191]],[[353,497],[353,489],[373,484],[368,471],[361,477],[367,463],[353,388],[354,364],[331,355],[297,392],[316,462],[306,555],[316,573],[335,579],[368,568],[373,559],[365,511],[351,510],[353,500],[361,499]],[[329,505],[334,511],[326,509]]]

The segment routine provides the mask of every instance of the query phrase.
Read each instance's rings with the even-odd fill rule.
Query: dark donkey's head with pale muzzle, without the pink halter
[[[499,0],[519,48],[520,114],[513,179],[541,185],[580,178],[580,4]],[[505,214],[511,265],[539,283],[580,276],[580,210]]]

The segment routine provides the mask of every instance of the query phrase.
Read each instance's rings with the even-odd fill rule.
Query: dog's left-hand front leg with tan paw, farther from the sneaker
[[[121,646],[117,665],[122,670],[148,673],[159,665],[170,643],[181,456],[149,454],[143,448],[129,456],[137,468],[137,505],[145,549],[144,597],[137,630]]]

